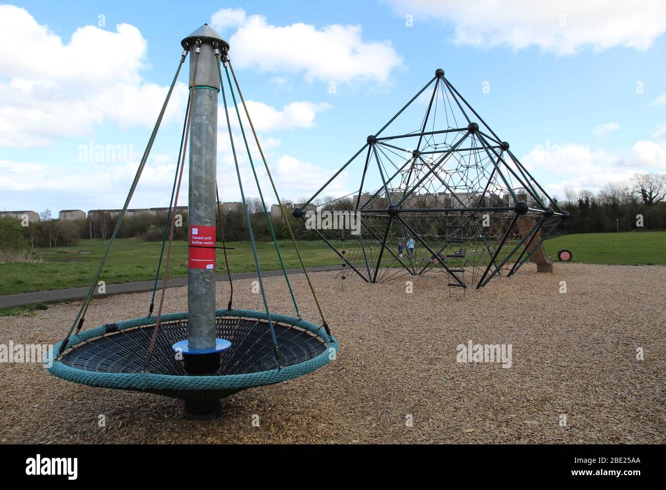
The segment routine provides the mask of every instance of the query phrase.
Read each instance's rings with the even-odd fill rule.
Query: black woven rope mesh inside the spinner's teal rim
[[[218,317],[217,337],[231,347],[222,353],[220,375],[257,373],[277,369],[268,322],[260,319]],[[302,363],[320,355],[326,345],[308,331],[273,322],[280,348],[282,367]],[[98,373],[140,373],[153,326],[138,327],[97,337],[65,353],[63,364]],[[187,321],[162,323],[157,333],[149,372],[186,375],[182,361],[176,360],[171,346],[187,338]]]

